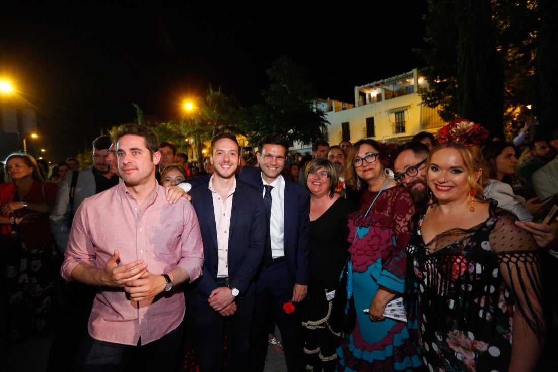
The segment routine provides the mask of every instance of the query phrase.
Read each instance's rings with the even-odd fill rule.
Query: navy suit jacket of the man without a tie
[[[203,276],[187,291],[189,301],[207,301],[211,290],[217,288],[217,227],[208,187],[209,183],[205,182],[196,185],[189,193],[198,214],[205,255]],[[229,284],[241,295],[254,291],[254,275],[262,262],[266,231],[263,198],[256,188],[237,180],[230,216],[228,270]]]

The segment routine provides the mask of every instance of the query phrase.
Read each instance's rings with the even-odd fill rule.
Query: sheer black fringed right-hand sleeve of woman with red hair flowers
[[[489,235],[490,249],[502,277],[508,286],[516,311],[521,312],[527,325],[542,338],[545,329],[541,262],[538,246],[531,234],[515,225],[517,219],[502,214]]]

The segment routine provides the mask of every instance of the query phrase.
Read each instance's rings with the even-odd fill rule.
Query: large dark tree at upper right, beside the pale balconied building
[[[418,53],[432,82],[421,90],[450,121],[466,117],[493,136],[523,125],[530,112],[537,0],[427,0],[425,42]]]

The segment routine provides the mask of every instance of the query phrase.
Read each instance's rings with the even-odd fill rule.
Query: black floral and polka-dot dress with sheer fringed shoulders
[[[417,223],[407,246],[407,287],[416,291],[427,370],[506,371],[515,311],[542,334],[536,243],[514,221],[511,213],[491,206],[487,221],[451,229],[427,244],[422,218]]]

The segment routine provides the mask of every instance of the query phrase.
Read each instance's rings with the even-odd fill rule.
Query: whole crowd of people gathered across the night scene
[[[558,130],[526,128],[459,119],[311,155],[221,133],[192,163],[127,124],[84,169],[9,155],[3,337],[54,333],[52,371],[261,372],[268,347],[291,372],[540,370]]]

